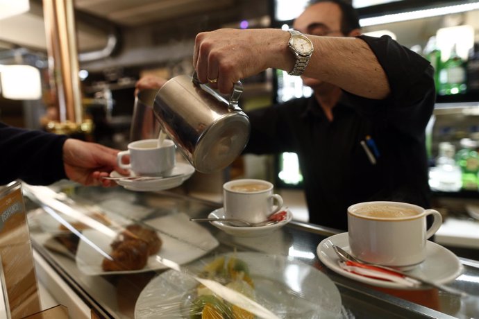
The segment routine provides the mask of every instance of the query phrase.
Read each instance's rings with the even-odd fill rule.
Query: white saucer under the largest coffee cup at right
[[[358,282],[364,282],[364,284],[371,284],[373,286],[411,289],[410,287],[394,282],[387,282],[385,280],[356,275],[340,268],[338,265],[339,257],[337,257],[332,244],[343,248],[346,250],[346,252],[351,252],[349,248],[348,233],[344,232],[342,234],[336,234],[324,239],[321,241],[321,243],[319,243],[316,250],[319,260],[321,260],[323,264],[336,273],[344,275],[344,277],[358,280]],[[406,273],[410,273],[411,275],[423,279],[428,279],[431,282],[437,282],[437,284],[444,284],[459,276],[462,273],[462,270],[462,264],[460,263],[459,259],[457,259],[456,255],[453,254],[453,252],[442,247],[442,245],[437,245],[437,243],[428,241],[426,243],[426,260],[416,268],[409,270]]]

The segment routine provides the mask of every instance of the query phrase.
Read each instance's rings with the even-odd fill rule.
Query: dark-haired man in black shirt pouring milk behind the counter
[[[245,152],[298,154],[312,223],[346,230],[347,207],[369,200],[429,207],[425,128],[435,87],[428,61],[390,37],[360,35],[354,10],[337,0],[312,4],[294,28],[319,36],[310,37],[314,53],[302,76],[313,96],[250,112]],[[201,33],[199,79],[228,92],[267,67],[291,71],[294,55],[281,44],[288,37],[272,29]]]

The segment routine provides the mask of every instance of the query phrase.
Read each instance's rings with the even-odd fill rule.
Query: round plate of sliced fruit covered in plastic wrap
[[[319,270],[280,255],[230,252],[152,279],[135,318],[342,318],[341,308]]]

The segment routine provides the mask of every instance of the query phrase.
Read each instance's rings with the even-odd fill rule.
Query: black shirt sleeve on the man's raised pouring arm
[[[434,69],[428,60],[387,35],[359,38],[369,45],[383,67],[391,94],[383,101],[348,92],[345,98],[370,119],[379,119],[383,125],[411,137],[422,135],[435,104]]]

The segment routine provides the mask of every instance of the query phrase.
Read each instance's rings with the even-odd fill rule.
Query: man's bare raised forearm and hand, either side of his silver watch
[[[308,35],[314,53],[304,76],[324,80],[365,98],[386,98],[389,83],[376,55],[356,37]],[[220,29],[196,35],[194,66],[199,80],[217,78],[220,92],[270,67],[291,71],[289,33],[278,29]],[[208,78],[207,78],[208,77]]]

